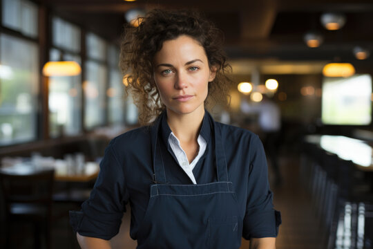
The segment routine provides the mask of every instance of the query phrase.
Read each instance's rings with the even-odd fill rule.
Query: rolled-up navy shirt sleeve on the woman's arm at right
[[[251,162],[247,190],[247,208],[243,221],[243,237],[277,237],[280,212],[274,210],[273,194],[269,190],[267,159],[258,136],[251,139]]]

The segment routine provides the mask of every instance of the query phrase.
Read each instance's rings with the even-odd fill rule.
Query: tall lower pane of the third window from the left
[[[85,95],[84,125],[92,129],[104,124],[106,109],[106,66],[97,62],[86,62],[86,81],[83,84]]]

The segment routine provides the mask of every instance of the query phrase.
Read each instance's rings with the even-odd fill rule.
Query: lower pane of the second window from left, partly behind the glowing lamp
[[[51,59],[59,59],[57,49],[50,50]],[[80,58],[64,55],[64,59],[80,64]],[[81,131],[81,75],[49,78],[49,129],[50,136],[77,135]]]

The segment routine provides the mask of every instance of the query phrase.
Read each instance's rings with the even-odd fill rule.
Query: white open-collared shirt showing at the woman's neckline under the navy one
[[[193,175],[193,169],[195,165],[198,163],[198,160],[200,160],[200,158],[204,154],[204,151],[206,150],[206,147],[207,147],[207,142],[206,140],[204,140],[204,138],[202,138],[201,135],[198,135],[197,142],[198,142],[198,145],[200,145],[200,149],[198,150],[198,155],[193,159],[191,164],[189,164],[187,154],[185,154],[184,149],[182,149],[182,147],[180,146],[180,141],[178,140],[178,138],[176,138],[173,132],[171,132],[169,136],[169,144],[171,146],[173,153],[176,156],[176,159],[178,159],[178,163],[180,167],[182,167],[184,172],[187,173],[187,175],[189,176],[189,178],[191,178],[191,181],[194,184],[197,184],[197,182],[195,181],[195,178]]]

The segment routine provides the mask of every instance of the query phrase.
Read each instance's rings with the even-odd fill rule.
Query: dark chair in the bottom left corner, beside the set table
[[[53,179],[54,169],[35,170],[28,174],[0,170],[6,212],[6,248],[10,248],[13,223],[32,223],[35,248],[42,248],[41,232],[45,234],[45,247],[50,248]]]

